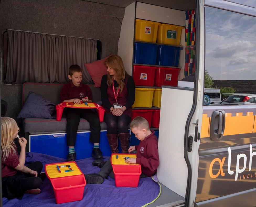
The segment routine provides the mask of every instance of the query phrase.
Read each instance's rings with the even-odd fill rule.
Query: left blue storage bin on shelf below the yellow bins
[[[155,65],[159,46],[160,45],[135,42],[134,63]]]

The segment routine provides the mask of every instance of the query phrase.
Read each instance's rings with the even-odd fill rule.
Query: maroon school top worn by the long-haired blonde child
[[[16,155],[11,150],[10,156],[7,157],[7,160],[2,161],[2,177],[8,177],[15,175],[17,170],[14,168],[19,165],[19,156],[18,152],[16,151]]]

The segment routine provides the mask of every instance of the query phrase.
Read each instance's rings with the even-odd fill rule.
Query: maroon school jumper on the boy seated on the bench
[[[68,99],[80,99],[88,96],[92,100],[92,90],[88,85],[80,83],[80,86],[75,86],[72,81],[66,83],[60,92],[60,102]]]

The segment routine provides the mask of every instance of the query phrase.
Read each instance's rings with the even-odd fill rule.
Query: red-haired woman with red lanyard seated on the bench
[[[118,153],[118,137],[122,153],[128,153],[130,134],[128,124],[132,117],[132,108],[135,100],[134,79],[124,69],[120,56],[112,55],[105,60],[108,67],[107,75],[101,80],[102,106],[106,110],[107,137],[112,153]]]

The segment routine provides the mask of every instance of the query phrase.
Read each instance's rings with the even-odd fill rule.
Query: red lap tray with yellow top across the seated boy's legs
[[[84,108],[84,109],[96,108],[99,120],[100,120],[100,122],[103,122],[105,109],[96,103],[88,103],[87,105],[85,105],[84,102],[82,102],[82,101],[81,101],[81,104],[74,104],[72,102],[63,102],[61,104],[56,105],[56,120],[57,121],[61,120],[63,109],[65,107]]]

